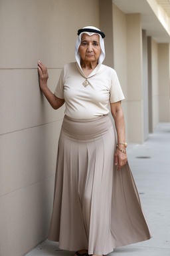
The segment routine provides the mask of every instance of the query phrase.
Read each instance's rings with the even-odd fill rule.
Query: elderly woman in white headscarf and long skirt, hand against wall
[[[96,27],[78,30],[76,63],[64,66],[54,94],[39,62],[42,93],[54,109],[65,103],[49,239],[78,256],[151,237],[127,162],[124,95],[116,71],[102,65],[104,37]]]

